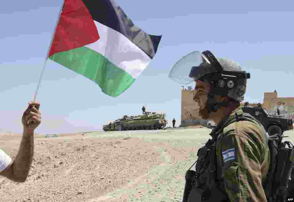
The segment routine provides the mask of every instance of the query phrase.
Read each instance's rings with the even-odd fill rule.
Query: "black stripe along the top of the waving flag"
[[[154,57],[161,36],[147,34],[135,26],[113,0],[83,0],[83,2],[90,11],[93,20],[120,32],[151,59]]]

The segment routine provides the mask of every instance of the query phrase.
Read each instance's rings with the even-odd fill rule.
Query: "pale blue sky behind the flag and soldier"
[[[167,4],[168,2],[168,4]],[[171,67],[192,51],[210,50],[250,72],[245,101],[263,92],[294,97],[293,1],[123,1],[133,23],[163,35],[154,59],[121,96],[112,98],[94,82],[49,60],[36,100],[42,123],[36,133],[98,131],[123,115],[165,112],[181,120],[181,84]],[[61,0],[5,1],[0,8],[0,133],[22,133],[21,116],[33,100]]]

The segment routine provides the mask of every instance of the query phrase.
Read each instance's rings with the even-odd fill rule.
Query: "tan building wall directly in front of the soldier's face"
[[[187,90],[182,87],[181,98],[181,126],[207,125],[208,120],[203,120],[198,116],[198,104],[193,101],[191,89]]]

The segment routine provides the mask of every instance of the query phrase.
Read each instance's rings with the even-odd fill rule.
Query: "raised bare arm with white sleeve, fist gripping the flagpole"
[[[39,102],[30,102],[21,118],[24,133],[16,157],[12,160],[0,149],[0,176],[15,182],[26,181],[34,154],[34,130],[41,123],[39,107]]]

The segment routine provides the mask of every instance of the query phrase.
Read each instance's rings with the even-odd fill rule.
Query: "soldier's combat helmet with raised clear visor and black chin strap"
[[[216,59],[210,51],[193,51],[173,66],[169,78],[181,84],[198,80],[211,83],[211,92],[207,95],[207,111],[210,114],[229,104],[228,101],[217,102],[216,95],[228,96],[235,101],[244,100],[250,73],[243,71],[232,60]]]

